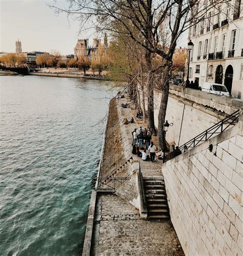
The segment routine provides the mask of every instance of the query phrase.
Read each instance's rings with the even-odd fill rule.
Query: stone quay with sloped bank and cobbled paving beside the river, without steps
[[[83,255],[184,255],[168,215],[163,220],[143,219],[145,192],[139,184],[143,175],[163,178],[161,161],[144,162],[132,155],[131,132],[140,124],[123,124],[125,117],[134,117],[131,108],[120,107],[126,102],[131,104],[126,99],[110,103],[100,182],[92,191]]]

